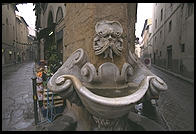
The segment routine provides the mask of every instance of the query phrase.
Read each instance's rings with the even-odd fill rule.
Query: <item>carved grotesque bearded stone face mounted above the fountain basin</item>
[[[96,37],[94,38],[93,48],[96,55],[104,54],[113,59],[113,54],[121,55],[122,46],[122,26],[116,21],[101,21],[95,26]]]

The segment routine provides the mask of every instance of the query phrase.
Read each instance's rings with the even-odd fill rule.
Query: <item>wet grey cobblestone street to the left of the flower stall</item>
[[[2,68],[2,130],[24,129],[34,123],[33,62]]]

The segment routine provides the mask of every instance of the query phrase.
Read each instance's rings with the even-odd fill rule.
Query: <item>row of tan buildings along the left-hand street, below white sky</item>
[[[2,4],[2,65],[27,60],[28,24],[16,4]]]

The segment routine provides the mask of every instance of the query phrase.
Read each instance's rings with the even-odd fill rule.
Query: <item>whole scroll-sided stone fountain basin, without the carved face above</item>
[[[83,49],[78,49],[50,78],[48,88],[70,101],[81,101],[94,116],[120,118],[145,95],[147,98],[157,97],[160,91],[167,89],[159,77],[137,61],[124,63],[121,71],[110,62],[103,63],[96,70],[87,61]]]

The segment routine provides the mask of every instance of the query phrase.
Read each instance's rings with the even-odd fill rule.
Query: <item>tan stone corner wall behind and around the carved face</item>
[[[129,13],[128,13],[128,7]],[[74,3],[66,5],[64,30],[64,61],[78,48],[83,48],[89,56],[89,61],[98,68],[104,62],[112,62],[110,58],[104,59],[96,56],[93,50],[95,24],[101,20],[119,21],[123,27],[122,56],[114,57],[114,64],[120,69],[126,61],[128,47],[134,51],[134,25],[136,4],[126,3]],[[129,23],[128,23],[129,22]],[[129,43],[128,43],[129,42]],[[128,46],[130,44],[130,46]]]

